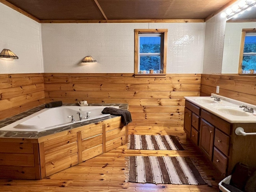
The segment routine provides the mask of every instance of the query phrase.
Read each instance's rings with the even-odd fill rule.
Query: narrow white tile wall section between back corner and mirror
[[[202,73],[221,74],[226,18],[220,14],[206,21]]]

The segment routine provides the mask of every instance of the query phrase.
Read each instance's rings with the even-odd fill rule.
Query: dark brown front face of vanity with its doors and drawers
[[[230,173],[233,168],[228,166],[233,161],[230,157],[231,128],[232,124],[186,100],[184,131],[187,138],[192,140],[224,175]]]

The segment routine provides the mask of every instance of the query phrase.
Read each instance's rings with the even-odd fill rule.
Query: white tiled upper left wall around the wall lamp
[[[10,49],[19,59],[0,59],[0,74],[40,73],[40,24],[0,3],[0,52]]]

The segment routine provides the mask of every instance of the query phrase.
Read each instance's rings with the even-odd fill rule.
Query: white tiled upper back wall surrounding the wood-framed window
[[[42,24],[45,72],[133,73],[134,29],[168,29],[167,73],[201,73],[204,23]],[[81,64],[91,55],[93,64]]]

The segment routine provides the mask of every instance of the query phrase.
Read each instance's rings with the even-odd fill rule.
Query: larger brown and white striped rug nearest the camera
[[[127,157],[129,182],[155,184],[206,184],[188,157],[130,156]]]

